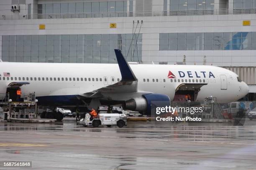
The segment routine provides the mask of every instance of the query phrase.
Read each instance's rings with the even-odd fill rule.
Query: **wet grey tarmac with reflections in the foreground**
[[[0,161],[32,161],[35,170],[255,170],[256,120],[125,128],[85,128],[74,118],[0,122]]]

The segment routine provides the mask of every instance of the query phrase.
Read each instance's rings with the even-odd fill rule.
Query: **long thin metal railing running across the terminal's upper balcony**
[[[142,12],[106,12],[106,13],[61,13],[61,14],[20,14],[1,15],[1,20],[16,19],[49,19],[49,18],[104,18],[104,17],[147,17],[147,16],[181,16],[181,15],[227,15],[256,14],[256,8],[251,9],[219,9],[219,10],[171,10]]]

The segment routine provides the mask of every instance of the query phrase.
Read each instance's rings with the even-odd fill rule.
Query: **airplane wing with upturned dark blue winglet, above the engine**
[[[120,50],[115,49],[115,55],[118,61],[118,66],[121,72],[122,80],[113,85],[108,85],[92,92],[82,94],[84,97],[97,98],[108,97],[108,94],[120,94],[120,93],[133,93],[138,91],[138,79],[134,75],[128,62],[123,57]],[[143,92],[151,93],[151,92]]]

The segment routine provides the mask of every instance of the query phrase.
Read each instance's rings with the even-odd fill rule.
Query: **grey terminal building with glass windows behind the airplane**
[[[225,67],[256,100],[256,0],[0,1],[3,61],[116,63],[116,48],[141,64]]]

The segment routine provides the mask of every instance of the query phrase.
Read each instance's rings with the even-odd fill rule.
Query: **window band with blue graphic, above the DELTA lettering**
[[[160,33],[159,50],[256,50],[256,32]]]

